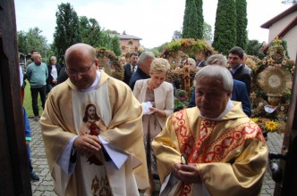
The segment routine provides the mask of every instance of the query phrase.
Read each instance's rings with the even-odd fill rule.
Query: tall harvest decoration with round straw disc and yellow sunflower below
[[[282,41],[276,37],[263,60],[254,58],[257,67],[251,78],[251,120],[266,135],[269,132],[284,133],[290,107],[293,61],[285,55]]]

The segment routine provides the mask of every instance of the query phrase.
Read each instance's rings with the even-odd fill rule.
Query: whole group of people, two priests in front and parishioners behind
[[[191,102],[176,112],[174,86],[165,81],[170,64],[154,53],[133,52],[126,64],[121,57],[123,81],[98,69],[90,45],[69,47],[64,68],[55,56],[48,66],[40,54],[32,56],[26,70],[32,108],[57,194],[143,190],[149,196],[156,179],[160,195],[259,194],[267,144],[250,120],[251,78],[242,48],[233,47],[227,58],[199,53],[196,61],[182,61],[199,71]]]

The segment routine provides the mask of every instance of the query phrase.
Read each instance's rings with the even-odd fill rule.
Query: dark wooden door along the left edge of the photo
[[[0,195],[31,195],[14,1],[0,0]]]

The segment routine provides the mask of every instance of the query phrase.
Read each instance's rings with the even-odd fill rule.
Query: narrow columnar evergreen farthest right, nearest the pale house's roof
[[[243,50],[247,49],[248,43],[248,19],[247,19],[247,1],[236,0],[236,45],[242,47]]]

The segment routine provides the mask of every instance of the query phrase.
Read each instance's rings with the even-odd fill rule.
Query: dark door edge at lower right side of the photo
[[[295,65],[297,64],[297,58]],[[280,182],[276,182],[275,196],[297,195],[297,71],[293,75],[292,99],[284,132],[279,160]]]

